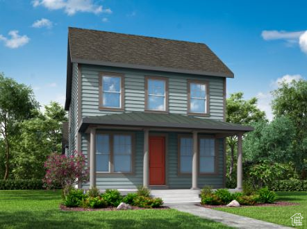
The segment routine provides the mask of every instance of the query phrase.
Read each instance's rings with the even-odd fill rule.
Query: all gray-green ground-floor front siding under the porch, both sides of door
[[[166,160],[166,180],[169,188],[173,189],[189,189],[192,185],[192,175],[180,176],[178,175],[178,134],[167,133],[167,160]],[[223,139],[218,139],[218,174],[215,176],[199,176],[198,185],[210,185],[214,188],[223,187],[223,174],[224,174],[224,144]],[[87,136],[84,134],[82,137],[82,151],[87,155]],[[143,182],[143,132],[135,132],[135,173],[133,175],[121,174],[104,174],[103,176],[97,175],[97,187],[100,189],[116,188],[128,189],[135,188],[142,185]],[[89,185],[83,185],[83,188],[88,188]]]

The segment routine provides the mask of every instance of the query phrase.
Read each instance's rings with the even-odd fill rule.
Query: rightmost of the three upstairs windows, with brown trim
[[[188,82],[188,112],[190,114],[208,114],[208,83],[202,81]]]

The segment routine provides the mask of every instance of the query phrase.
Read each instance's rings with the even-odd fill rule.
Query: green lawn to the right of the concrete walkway
[[[244,217],[251,217],[290,227],[292,227],[290,217],[295,213],[301,213],[304,219],[303,226],[300,226],[299,228],[307,228],[307,192],[277,192],[277,194],[279,195],[277,201],[290,201],[293,203],[299,203],[299,205],[280,207],[218,207],[215,208],[215,210],[239,214]]]

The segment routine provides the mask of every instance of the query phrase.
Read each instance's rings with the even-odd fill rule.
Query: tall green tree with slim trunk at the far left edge
[[[6,147],[5,180],[10,173],[10,141],[18,130],[17,124],[31,118],[31,110],[35,108],[38,108],[38,103],[30,87],[0,74],[0,134]]]

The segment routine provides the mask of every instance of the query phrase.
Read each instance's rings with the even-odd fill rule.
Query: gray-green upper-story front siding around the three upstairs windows
[[[223,78],[210,76],[193,76],[188,74],[157,73],[154,71],[138,71],[115,67],[99,67],[82,65],[82,117],[101,114],[120,113],[117,111],[99,110],[99,72],[113,71],[125,76],[124,105],[126,112],[144,112],[144,81],[145,76],[162,76],[169,78],[169,112],[187,114],[188,112],[188,81],[206,80],[209,82],[210,119],[223,120]]]

